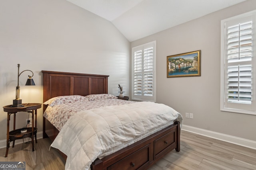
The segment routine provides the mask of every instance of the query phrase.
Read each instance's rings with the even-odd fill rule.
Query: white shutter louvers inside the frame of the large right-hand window
[[[228,102],[251,104],[252,21],[228,27]],[[249,61],[249,62],[248,62]]]

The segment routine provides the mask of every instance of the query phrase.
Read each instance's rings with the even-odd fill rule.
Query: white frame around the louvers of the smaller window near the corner
[[[152,88],[152,96],[144,96],[143,94],[143,87],[142,87],[142,95],[135,95],[134,94],[134,76],[135,76],[135,71],[134,71],[134,52],[142,50],[142,54],[144,49],[148,47],[153,47],[153,70],[152,71],[145,71],[145,72],[152,72],[153,74],[153,88]],[[144,74],[143,70],[143,58],[144,54],[142,55],[142,75]],[[143,79],[143,76],[142,76]],[[132,47],[132,100],[139,100],[139,101],[149,101],[149,102],[156,102],[156,41],[152,41],[146,44],[138,45],[136,47]],[[142,84],[143,84],[142,80]]]

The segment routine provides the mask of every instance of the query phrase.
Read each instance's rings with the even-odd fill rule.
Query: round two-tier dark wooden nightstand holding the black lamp
[[[36,140],[36,114],[37,114],[37,109],[41,108],[42,104],[39,103],[28,103],[28,104],[23,104],[23,107],[10,107],[11,105],[4,106],[4,111],[7,112],[7,139],[6,139],[6,153],[5,157],[8,155],[8,150],[10,147],[10,142],[12,142],[12,147],[14,147],[14,143],[16,139],[23,139],[30,137],[32,139],[32,151],[34,151],[34,136],[35,136],[35,141]],[[21,129],[15,129],[15,122],[16,122],[16,113],[20,111],[26,111],[28,113],[32,113],[32,127],[27,127],[27,131],[24,133],[21,133]],[[13,120],[13,131],[9,131],[9,126],[10,126],[10,115],[14,114],[14,120]],[[35,115],[35,121],[34,121],[34,115]]]

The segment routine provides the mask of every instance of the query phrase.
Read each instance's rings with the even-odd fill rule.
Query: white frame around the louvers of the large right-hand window
[[[250,18],[252,21],[252,60],[249,62],[252,66],[251,69],[251,104],[239,103],[239,102],[228,102],[228,55],[226,48],[227,41],[227,33],[226,28],[228,24],[237,25],[237,23],[245,23],[246,20]],[[230,26],[229,25],[229,26]],[[240,35],[242,36],[242,35]],[[247,12],[244,14],[240,14],[238,16],[234,16],[221,21],[221,62],[220,62],[220,110],[221,111],[229,111],[234,113],[244,113],[256,115],[256,10]],[[241,66],[237,62],[237,66]],[[232,64],[229,64],[229,66]]]

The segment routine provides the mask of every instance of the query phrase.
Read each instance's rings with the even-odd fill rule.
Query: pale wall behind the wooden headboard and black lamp
[[[23,103],[42,103],[41,70],[110,75],[108,93],[118,84],[129,94],[130,43],[107,20],[65,0],[0,1],[0,106],[12,104],[17,64],[34,72],[36,86],[24,86],[30,72],[20,76]],[[18,113],[16,128],[28,113]],[[31,115],[30,115],[31,117]],[[6,140],[7,113],[0,109],[0,141]],[[12,119],[10,129],[12,129]],[[42,109],[38,132],[42,131]]]

